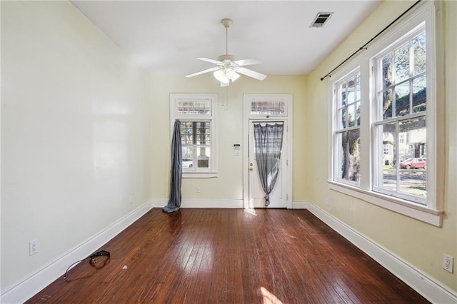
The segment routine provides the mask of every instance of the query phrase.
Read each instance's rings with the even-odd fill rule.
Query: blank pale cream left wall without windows
[[[70,2],[1,1],[2,291],[149,201],[148,84]]]

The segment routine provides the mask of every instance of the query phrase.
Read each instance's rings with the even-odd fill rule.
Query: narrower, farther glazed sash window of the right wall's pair
[[[335,179],[358,184],[360,176],[360,73],[349,74],[336,83],[336,121],[333,145]]]

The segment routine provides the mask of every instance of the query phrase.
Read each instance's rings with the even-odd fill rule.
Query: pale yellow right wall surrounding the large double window
[[[413,218],[374,206],[371,203],[346,196],[336,191],[330,191],[326,183],[328,163],[328,80],[320,81],[333,67],[353,53],[358,47],[366,43],[378,31],[383,29],[408,6],[411,1],[386,1],[360,26],[351,36],[333,51],[318,68],[306,78],[306,111],[303,113],[305,125],[304,140],[312,143],[312,148],[306,149],[304,158],[313,160],[308,163],[303,183],[303,195],[306,200],[318,208],[330,213],[339,221],[346,223],[362,235],[381,245],[386,250],[398,255],[413,265],[413,267],[427,273],[451,290],[457,291],[456,266],[454,274],[441,269],[443,253],[457,258],[457,215],[456,215],[456,18],[457,2],[446,1],[444,5],[444,37],[446,48],[438,46],[438,61],[446,62],[446,97],[439,100],[441,108],[446,108],[444,117],[446,130],[444,131],[446,144],[444,149],[445,169],[438,172],[444,176],[445,196],[443,226],[431,226]],[[440,33],[438,33],[439,35]],[[438,71],[438,73],[439,73]],[[300,170],[301,168],[296,168]],[[297,185],[294,184],[296,187]],[[330,204],[326,206],[326,200]]]

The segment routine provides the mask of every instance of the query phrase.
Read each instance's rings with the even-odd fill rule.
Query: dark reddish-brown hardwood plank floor
[[[26,303],[428,303],[306,210],[154,208],[100,249]]]

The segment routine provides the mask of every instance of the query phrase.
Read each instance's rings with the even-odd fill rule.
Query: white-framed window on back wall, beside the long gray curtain
[[[171,126],[181,121],[184,178],[216,176],[216,102],[215,94],[170,94]]]

